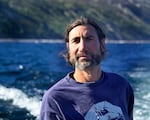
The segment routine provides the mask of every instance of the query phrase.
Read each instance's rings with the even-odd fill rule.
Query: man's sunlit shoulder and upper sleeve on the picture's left
[[[58,100],[61,100],[60,96],[63,96],[62,91],[67,85],[67,79],[68,76],[60,79],[44,93],[41,103],[41,119],[45,118],[46,120],[49,120],[56,117],[56,114],[61,114]]]

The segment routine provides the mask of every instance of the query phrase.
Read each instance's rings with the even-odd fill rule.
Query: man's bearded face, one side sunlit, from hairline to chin
[[[80,70],[86,70],[100,64],[101,50],[104,44],[100,44],[95,28],[91,25],[80,25],[69,33],[69,61]]]

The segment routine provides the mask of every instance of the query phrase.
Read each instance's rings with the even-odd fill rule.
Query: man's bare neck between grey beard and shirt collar
[[[75,69],[73,77],[77,82],[81,82],[81,83],[95,82],[100,79],[101,74],[102,72],[100,67],[96,67],[88,70]]]

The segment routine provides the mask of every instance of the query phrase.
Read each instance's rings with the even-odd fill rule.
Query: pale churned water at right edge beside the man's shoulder
[[[129,72],[129,76],[135,79],[135,120],[148,120],[150,119],[150,72],[145,68],[138,68],[134,72]]]

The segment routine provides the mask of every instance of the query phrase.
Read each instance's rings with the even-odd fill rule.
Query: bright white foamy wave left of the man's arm
[[[27,109],[31,115],[39,119],[41,100],[38,97],[28,97],[24,92],[16,88],[6,88],[0,85],[0,99],[11,100],[12,104]]]

